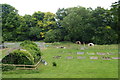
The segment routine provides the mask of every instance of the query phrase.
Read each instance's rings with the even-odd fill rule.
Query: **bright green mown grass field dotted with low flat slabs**
[[[17,43],[18,44],[18,43]],[[37,43],[39,44],[39,42]],[[66,47],[65,49],[59,47]],[[8,49],[7,49],[8,50]],[[3,50],[3,56],[6,51]],[[78,45],[70,42],[46,43],[41,48],[42,59],[48,65],[40,64],[36,70],[14,70],[3,72],[3,78],[118,78],[118,57],[117,45]],[[84,54],[77,54],[84,52]],[[105,55],[98,55],[105,53]],[[89,53],[94,53],[90,55]],[[109,55],[107,53],[112,53]],[[61,58],[53,58],[61,56]],[[90,57],[98,59],[90,59]],[[69,57],[69,58],[67,58]],[[84,57],[78,59],[77,57]],[[110,57],[110,60],[103,60],[101,57]],[[52,66],[56,62],[57,66]]]

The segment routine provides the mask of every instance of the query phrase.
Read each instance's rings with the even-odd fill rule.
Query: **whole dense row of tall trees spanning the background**
[[[59,8],[56,14],[38,11],[24,16],[9,4],[0,5],[4,41],[118,43],[119,2],[113,3],[111,9],[77,6]]]

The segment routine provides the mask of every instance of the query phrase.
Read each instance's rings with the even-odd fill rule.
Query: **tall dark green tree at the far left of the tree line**
[[[4,40],[15,40],[16,28],[20,26],[18,11],[11,5],[2,4],[2,31]]]

